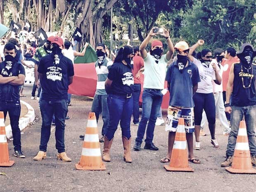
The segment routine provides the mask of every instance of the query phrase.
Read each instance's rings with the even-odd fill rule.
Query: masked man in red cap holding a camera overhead
[[[171,59],[174,47],[169,36],[169,31],[165,28],[161,28],[162,33],[155,33],[156,27],[153,27],[149,31],[148,36],[140,45],[140,54],[144,59],[144,84],[142,94],[142,117],[137,130],[137,137],[133,149],[140,151],[143,137],[145,135],[147,127],[147,136],[145,139],[144,149],[157,151],[153,143],[154,128],[156,119],[159,114],[159,109],[163,100],[162,90],[164,89],[164,81],[166,76],[167,62]],[[151,49],[146,51],[149,40],[156,36],[161,35],[166,38],[168,45],[168,52],[164,54],[163,43],[159,40],[153,40]]]

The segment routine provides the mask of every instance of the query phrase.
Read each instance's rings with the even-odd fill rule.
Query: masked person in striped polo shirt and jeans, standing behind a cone
[[[102,114],[103,126],[102,137],[100,142],[104,142],[104,135],[106,135],[107,127],[109,124],[109,109],[107,106],[107,92],[105,90],[105,81],[109,74],[109,69],[113,62],[106,57],[106,49],[103,43],[99,43],[96,47],[96,54],[98,60],[95,62],[95,69],[98,76],[96,92],[92,101],[91,112],[95,113],[96,120],[98,122],[100,113]],[[79,136],[81,140],[84,140],[84,135]]]

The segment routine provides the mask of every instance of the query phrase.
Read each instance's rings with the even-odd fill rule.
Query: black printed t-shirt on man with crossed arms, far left
[[[25,69],[22,64],[4,61],[0,63],[0,75],[3,77],[25,75]],[[19,101],[20,85],[11,85],[9,83],[0,84],[0,101],[17,102]]]

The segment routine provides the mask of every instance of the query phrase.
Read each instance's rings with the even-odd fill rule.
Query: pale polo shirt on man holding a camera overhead
[[[166,54],[162,55],[158,63],[150,53],[144,59],[144,85],[143,88],[164,89],[164,81],[167,70]]]

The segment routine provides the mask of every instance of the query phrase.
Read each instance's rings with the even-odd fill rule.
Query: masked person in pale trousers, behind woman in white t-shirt
[[[217,48],[216,50],[214,50],[214,55],[215,55],[215,58],[212,59],[211,64],[214,63],[216,65],[217,71],[219,75],[222,77],[223,66],[221,65],[221,62],[224,59],[224,50]],[[215,99],[216,112],[218,112],[218,118],[220,120],[221,125],[223,126],[223,135],[228,135],[230,133],[230,127],[228,124],[228,119],[225,114],[222,82],[220,85],[213,82],[213,95]],[[206,134],[203,134],[203,128],[206,121],[207,119],[204,111],[202,115],[200,135],[206,135]]]

